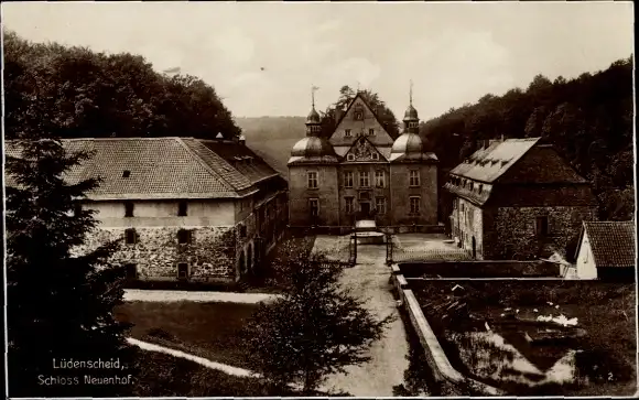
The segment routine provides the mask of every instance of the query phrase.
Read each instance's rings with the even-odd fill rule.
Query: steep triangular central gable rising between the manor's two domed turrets
[[[334,147],[353,145],[361,136],[367,137],[377,147],[392,145],[393,143],[375,111],[358,94],[348,105],[346,112],[331,136],[329,142]]]

